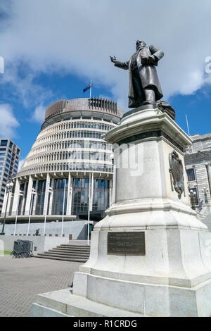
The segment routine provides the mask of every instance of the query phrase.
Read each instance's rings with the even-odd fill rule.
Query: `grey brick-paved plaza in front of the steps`
[[[0,257],[0,316],[30,316],[37,294],[65,289],[82,263]]]

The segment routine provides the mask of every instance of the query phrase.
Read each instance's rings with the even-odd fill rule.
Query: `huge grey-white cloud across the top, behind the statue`
[[[94,84],[108,85],[115,99],[125,105],[128,75],[114,68],[109,56],[128,60],[136,39],[143,39],[165,51],[158,65],[164,99],[193,94],[205,82],[211,83],[211,75],[204,75],[205,58],[211,56],[210,0],[203,4],[193,0],[9,2],[11,16],[0,30],[0,55],[6,68],[21,61],[30,66],[34,77],[41,72],[84,76]],[[3,0],[0,8],[5,4]]]

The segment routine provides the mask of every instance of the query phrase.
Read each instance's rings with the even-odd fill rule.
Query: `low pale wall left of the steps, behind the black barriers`
[[[68,244],[68,237],[31,237],[31,236],[0,236],[0,246],[4,251],[13,251],[15,240],[31,240],[33,242],[33,253],[48,251],[61,244]]]

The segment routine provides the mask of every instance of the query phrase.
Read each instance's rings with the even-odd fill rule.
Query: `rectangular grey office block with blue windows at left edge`
[[[18,173],[20,148],[11,139],[0,139],[0,214],[6,193],[6,182]]]

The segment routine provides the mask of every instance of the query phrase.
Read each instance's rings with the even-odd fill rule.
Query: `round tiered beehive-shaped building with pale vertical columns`
[[[7,221],[101,219],[111,204],[112,145],[103,140],[124,111],[110,100],[60,100],[16,175]],[[90,201],[90,204],[89,204]],[[5,208],[1,214],[4,217]]]

